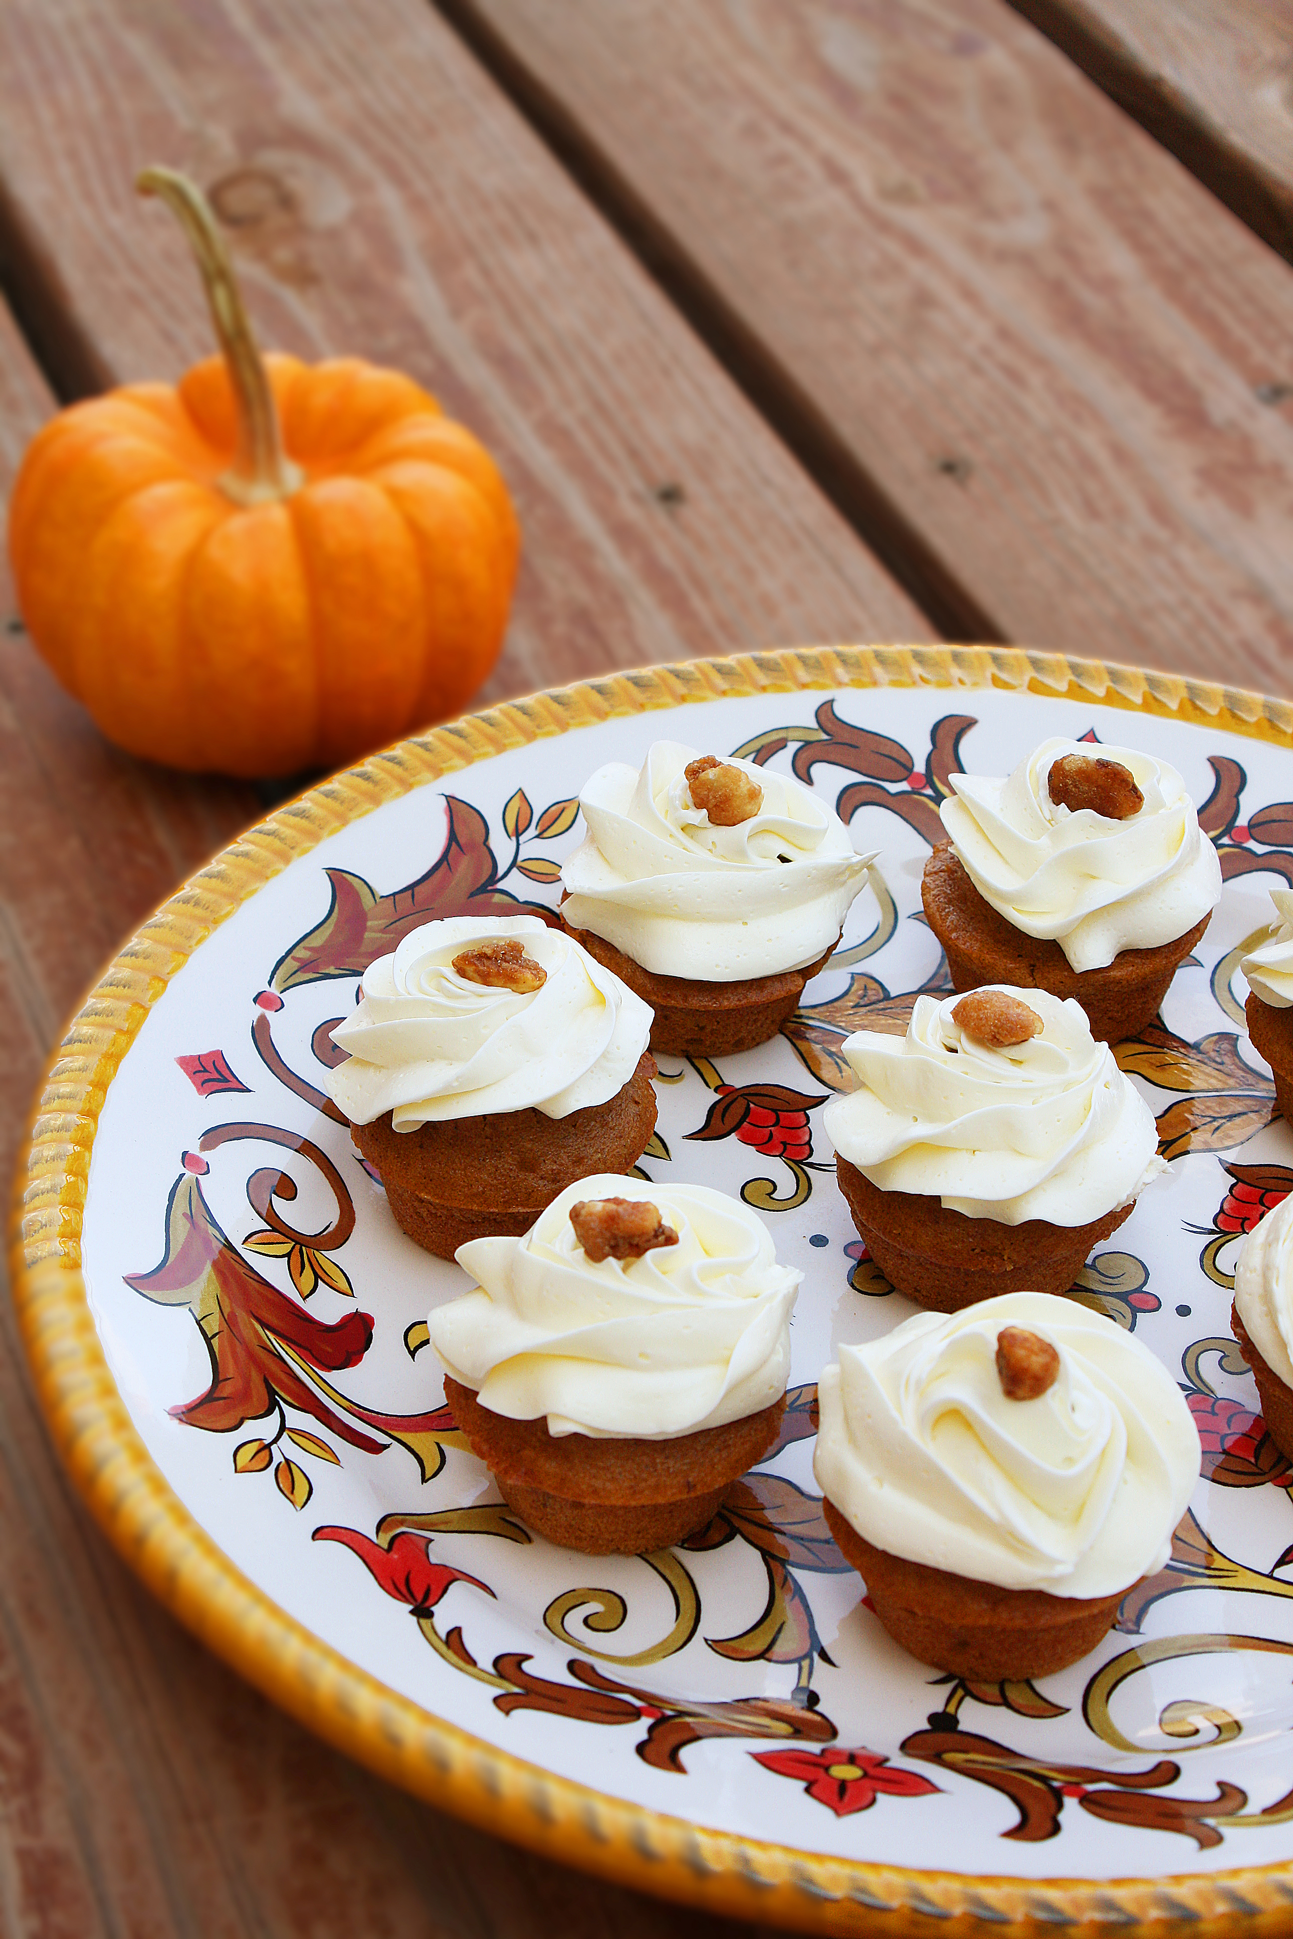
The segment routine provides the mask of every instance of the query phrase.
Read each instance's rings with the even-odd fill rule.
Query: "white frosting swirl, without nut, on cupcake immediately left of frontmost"
[[[649,1198],[678,1243],[593,1264],[570,1224],[582,1198]],[[756,1212],[708,1185],[580,1179],[523,1239],[473,1239],[456,1256],[479,1287],[432,1311],[430,1340],[494,1414],[667,1441],[785,1392],[803,1274],[777,1264]]]

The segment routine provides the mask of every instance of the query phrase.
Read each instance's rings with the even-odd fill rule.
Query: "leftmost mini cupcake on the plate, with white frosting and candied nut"
[[[651,1012],[535,915],[425,923],[363,979],[328,1074],[411,1239],[459,1245],[533,1225],[597,1163],[655,1128]]]

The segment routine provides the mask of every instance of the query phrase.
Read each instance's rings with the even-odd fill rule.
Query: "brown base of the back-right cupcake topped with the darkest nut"
[[[1101,1043],[1122,1043],[1153,1022],[1177,968],[1212,921],[1208,911],[1186,935],[1155,950],[1122,950],[1105,970],[1074,970],[1058,942],[1027,937],[983,900],[950,842],[940,842],[925,863],[921,902],[956,989],[1010,983],[1076,997]]]

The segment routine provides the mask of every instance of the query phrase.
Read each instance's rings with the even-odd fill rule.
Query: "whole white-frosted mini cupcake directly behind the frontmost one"
[[[1064,1293],[1165,1169],[1153,1113],[1080,1004],[1039,989],[917,997],[905,1037],[859,1030],[859,1090],[822,1123],[886,1278],[952,1313]]]

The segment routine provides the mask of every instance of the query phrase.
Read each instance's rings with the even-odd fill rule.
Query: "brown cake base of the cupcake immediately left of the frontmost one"
[[[723,1495],[775,1443],[785,1394],[741,1421],[669,1441],[551,1435],[545,1419],[483,1408],[446,1375],[444,1398],[471,1452],[521,1520],[585,1555],[649,1555],[704,1528]]]

